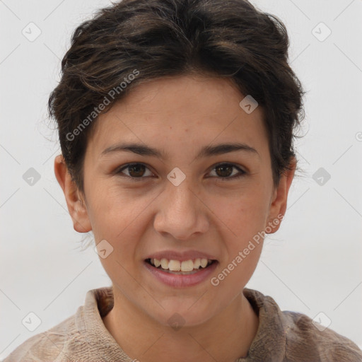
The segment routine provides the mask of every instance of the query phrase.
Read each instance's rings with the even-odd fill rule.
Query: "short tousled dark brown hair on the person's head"
[[[48,102],[78,189],[95,107],[112,94],[103,112],[109,110],[139,83],[192,73],[230,78],[262,106],[277,185],[295,156],[293,131],[304,117],[288,45],[284,24],[246,0],[123,0],[98,10],[74,31]]]

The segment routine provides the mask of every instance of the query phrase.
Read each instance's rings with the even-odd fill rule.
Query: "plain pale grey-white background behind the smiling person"
[[[296,143],[303,172],[247,286],[362,347],[362,1],[252,3],[286,24],[291,66],[308,93]],[[0,1],[0,358],[73,315],[89,289],[110,285],[93,247],[82,251],[85,235],[54,177],[59,145],[46,108],[71,33],[109,4]],[[40,176],[33,185],[30,168]],[[35,327],[30,312],[41,320],[33,332],[22,324]]]

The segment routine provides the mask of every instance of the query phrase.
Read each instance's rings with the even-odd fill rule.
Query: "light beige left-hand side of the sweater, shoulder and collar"
[[[124,361],[119,345],[102,317],[113,307],[111,287],[86,293],[76,313],[45,332],[30,337],[3,362]]]

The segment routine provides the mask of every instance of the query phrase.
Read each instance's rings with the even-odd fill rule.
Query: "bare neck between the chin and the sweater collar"
[[[135,361],[234,362],[247,356],[257,333],[259,318],[243,293],[202,325],[173,329],[160,325],[115,292],[113,287],[115,305],[103,322]]]

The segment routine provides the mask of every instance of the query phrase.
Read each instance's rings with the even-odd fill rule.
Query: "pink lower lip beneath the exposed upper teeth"
[[[158,269],[156,267],[153,267],[151,264],[148,264],[148,262],[144,262],[145,267],[151,271],[153,276],[156,276],[156,278],[159,281],[162,281],[163,284],[166,284],[168,286],[173,286],[174,288],[185,288],[187,286],[195,286],[197,284],[202,283],[202,281],[205,281],[209,278],[210,274],[216,269],[216,266],[218,262],[213,262],[209,265],[209,267],[205,269],[199,269],[194,274],[171,274],[167,271],[162,271],[161,269]]]

